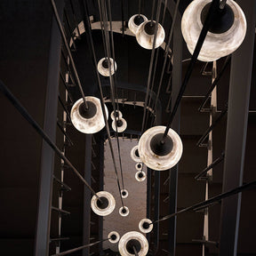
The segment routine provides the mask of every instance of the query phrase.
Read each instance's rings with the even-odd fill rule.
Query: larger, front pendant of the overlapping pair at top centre
[[[151,35],[149,35],[146,32],[147,29],[145,30],[145,26],[147,28],[149,26],[150,22],[151,21],[148,20],[148,21],[141,23],[140,27],[138,28],[137,33],[136,33],[136,40],[137,40],[138,44],[140,44],[141,47],[148,49],[148,50],[153,49],[153,41],[154,41],[154,29],[153,29],[153,31],[151,31],[151,32],[153,32],[153,34],[150,33]],[[153,21],[153,22],[156,22],[156,21]],[[155,48],[159,47],[161,44],[164,43],[164,37],[165,37],[164,28],[158,23]]]

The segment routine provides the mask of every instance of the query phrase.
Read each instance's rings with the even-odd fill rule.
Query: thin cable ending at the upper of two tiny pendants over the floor
[[[107,12],[107,10],[106,10]],[[118,93],[117,93],[117,79],[116,79],[116,55],[115,55],[115,46],[114,46],[114,36],[113,36],[113,28],[112,28],[112,14],[111,14],[111,6],[110,6],[110,0],[108,0],[108,17],[109,17],[109,25],[110,25],[110,38],[111,38],[111,45],[112,45],[112,57],[113,57],[113,62],[114,62],[114,97],[116,97],[116,109],[119,111],[119,104],[118,104]],[[115,111],[115,110],[114,110]],[[115,113],[115,112],[114,112]],[[117,119],[119,121],[119,115],[117,116]],[[117,142],[117,150],[118,150],[118,158],[119,158],[119,165],[120,165],[120,171],[121,171],[121,180],[122,180],[122,186],[124,189],[124,174],[123,174],[123,165],[122,165],[122,160],[121,160],[121,150],[120,150],[120,143],[119,143],[119,136],[117,132],[117,124],[115,121],[116,125],[116,142]]]

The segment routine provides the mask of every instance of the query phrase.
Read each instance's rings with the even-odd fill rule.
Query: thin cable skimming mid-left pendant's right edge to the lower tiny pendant
[[[107,134],[108,134],[108,141],[109,141],[109,148],[110,148],[110,152],[111,152],[111,157],[112,157],[113,164],[114,164],[114,169],[115,169],[115,172],[116,172],[116,181],[117,181],[117,186],[118,186],[118,190],[119,190],[119,196],[120,196],[120,199],[121,199],[121,204],[124,208],[124,201],[123,201],[123,197],[121,195],[120,182],[119,182],[119,178],[118,178],[118,174],[117,174],[116,160],[115,160],[115,156],[114,156],[114,149],[113,149],[113,146],[112,146],[111,135],[110,135],[110,131],[109,131],[108,118],[107,118],[107,114],[106,114],[106,110],[105,110],[104,96],[103,96],[101,82],[100,82],[100,75],[99,75],[99,72],[98,72],[98,69],[97,69],[97,59],[96,59],[94,44],[93,44],[93,40],[92,40],[92,27],[91,27],[91,22],[89,20],[88,6],[87,6],[85,0],[80,0],[80,1],[82,1],[82,4],[83,4],[84,19],[85,19],[85,24],[84,25],[85,25],[85,29],[86,29],[85,31],[88,31],[88,33],[85,33],[86,38],[88,40],[89,45],[91,45],[91,48],[92,48],[92,64],[94,65],[94,71],[96,72],[96,76],[97,76],[97,82],[98,82],[97,84],[98,84],[99,91],[100,91],[100,104],[101,104],[101,108],[102,108],[104,121],[105,121],[105,124],[106,124],[106,130],[107,130]]]

